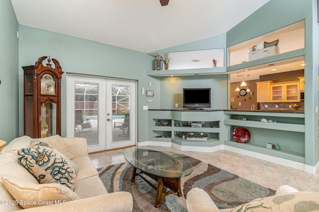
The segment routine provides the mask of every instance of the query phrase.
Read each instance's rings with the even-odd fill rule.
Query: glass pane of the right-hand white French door
[[[112,85],[113,142],[131,139],[130,90],[131,86]]]

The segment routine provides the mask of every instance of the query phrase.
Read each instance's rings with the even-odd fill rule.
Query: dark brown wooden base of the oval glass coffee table
[[[153,180],[157,181],[157,186],[155,186],[153,183],[151,183],[148,179],[146,179],[143,174],[149,176]],[[137,168],[134,167],[131,182],[135,181],[136,175],[140,176],[143,180],[145,180],[150,186],[152,186],[155,190],[157,190],[156,195],[156,201],[155,201],[155,207],[160,207],[160,201],[164,199],[167,195],[176,193],[178,197],[181,197],[181,189],[180,189],[180,178],[169,178],[169,177],[160,177],[156,175],[152,175],[149,173],[145,173],[140,170],[140,172],[137,172]],[[170,189],[170,191],[162,193],[163,192],[163,186]]]

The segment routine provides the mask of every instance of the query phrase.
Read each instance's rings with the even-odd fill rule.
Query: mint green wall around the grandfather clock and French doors
[[[142,96],[142,87],[148,87],[153,81],[146,75],[151,69],[153,57],[145,53],[128,50],[116,46],[106,45],[82,38],[41,30],[19,25],[19,84],[23,85],[23,70],[21,66],[34,64],[40,56],[51,56],[59,61],[62,71],[62,136],[66,136],[66,74],[76,73],[83,75],[103,76],[138,80],[138,141],[148,140],[147,110],[143,105],[147,98]],[[19,90],[19,101],[23,103],[23,90]],[[23,106],[20,104],[20,114]],[[23,134],[23,116],[20,116],[20,135]]]

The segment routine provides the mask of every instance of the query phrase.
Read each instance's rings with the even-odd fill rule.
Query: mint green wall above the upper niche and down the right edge
[[[270,0],[226,33],[227,47],[305,20],[305,163],[318,162],[317,0]]]

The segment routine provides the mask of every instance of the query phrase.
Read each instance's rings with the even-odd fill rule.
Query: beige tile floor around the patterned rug
[[[289,185],[299,191],[319,191],[319,172],[313,175],[226,150],[208,153],[180,151],[171,147],[162,148],[196,158],[273,190],[277,190],[281,185]],[[124,149],[100,152],[91,154],[90,158],[96,168],[107,167],[126,162],[123,152]]]

